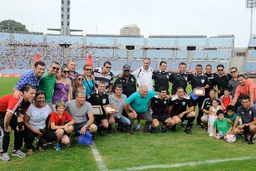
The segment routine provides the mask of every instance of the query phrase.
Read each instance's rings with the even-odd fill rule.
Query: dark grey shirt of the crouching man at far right
[[[249,110],[245,110],[241,105],[237,111],[237,116],[241,116],[243,124],[248,124],[256,118],[256,107],[253,106]]]

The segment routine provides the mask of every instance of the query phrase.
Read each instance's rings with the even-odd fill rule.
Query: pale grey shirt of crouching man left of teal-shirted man
[[[114,113],[113,116],[117,117],[118,119],[121,118],[121,115],[124,110],[124,102],[126,101],[127,97],[124,94],[121,94],[120,100],[115,98],[115,94],[109,95],[108,100],[111,105],[115,105],[117,113]]]

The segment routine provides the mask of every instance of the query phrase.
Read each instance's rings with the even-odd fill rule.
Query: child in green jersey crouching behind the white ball
[[[226,139],[231,132],[232,125],[224,118],[224,111],[217,111],[217,120],[214,121],[214,139]],[[218,132],[217,132],[218,130]]]

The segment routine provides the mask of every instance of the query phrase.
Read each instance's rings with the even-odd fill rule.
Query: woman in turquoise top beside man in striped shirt
[[[91,92],[94,90],[94,76],[91,76],[92,67],[86,64],[83,67],[84,70],[84,78],[83,85],[86,86],[86,100],[89,99]]]

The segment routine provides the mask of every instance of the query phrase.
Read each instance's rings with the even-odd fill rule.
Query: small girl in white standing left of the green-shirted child
[[[212,106],[209,107],[209,112],[211,112],[211,114],[208,117],[208,133],[209,136],[213,136],[214,135],[214,129],[213,129],[213,125],[214,125],[214,120],[217,119],[217,111],[218,110],[223,110],[222,106],[219,105],[218,100],[214,99],[212,100]]]

